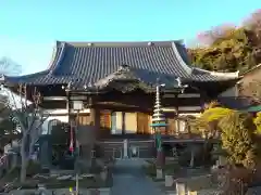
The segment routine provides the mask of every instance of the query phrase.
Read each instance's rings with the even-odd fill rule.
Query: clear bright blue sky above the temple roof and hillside
[[[260,0],[0,0],[0,56],[29,74],[49,65],[55,40],[185,39],[239,22]]]

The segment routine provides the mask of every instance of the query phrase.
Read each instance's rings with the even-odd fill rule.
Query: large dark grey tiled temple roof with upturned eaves
[[[125,69],[125,70],[123,70]],[[174,83],[176,78],[189,81],[232,80],[238,73],[212,73],[190,66],[181,41],[161,42],[57,42],[47,70],[20,77],[3,76],[13,83],[73,83],[94,87],[108,83],[119,76],[132,75],[145,83]]]

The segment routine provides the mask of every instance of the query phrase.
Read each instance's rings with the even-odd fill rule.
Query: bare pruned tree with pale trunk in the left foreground
[[[33,102],[27,101],[27,90],[25,84],[20,84],[18,95],[15,95],[3,87],[2,91],[9,98],[3,103],[12,110],[11,115],[17,122],[22,133],[20,148],[22,158],[20,180],[21,182],[24,182],[26,180],[27,165],[30,155],[34,152],[34,144],[38,139],[42,123],[48,118],[48,114],[46,115],[39,107],[41,95],[36,88],[33,94],[30,94]]]

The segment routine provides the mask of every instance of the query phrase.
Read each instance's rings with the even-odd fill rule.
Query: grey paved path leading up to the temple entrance
[[[164,195],[142,172],[142,159],[120,159],[113,170],[112,195]]]

